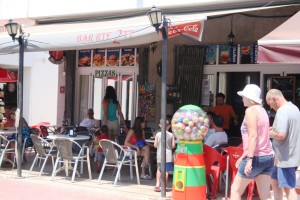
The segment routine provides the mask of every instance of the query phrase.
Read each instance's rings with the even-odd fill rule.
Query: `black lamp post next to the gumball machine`
[[[167,59],[168,59],[168,21],[162,10],[153,6],[147,13],[151,25],[162,33],[161,65],[161,196],[166,197],[166,107],[167,107]]]

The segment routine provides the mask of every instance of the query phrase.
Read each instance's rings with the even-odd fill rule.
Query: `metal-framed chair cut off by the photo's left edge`
[[[1,143],[2,141],[2,143]],[[10,155],[16,155],[15,154],[15,147],[11,147],[10,144],[14,144],[13,146],[15,146],[16,141],[15,140],[8,140],[5,136],[0,135],[0,167],[2,165],[3,161],[8,161],[9,163],[12,164],[12,168],[15,167],[15,161],[16,158],[14,158],[13,161],[6,159],[5,155],[10,154]]]

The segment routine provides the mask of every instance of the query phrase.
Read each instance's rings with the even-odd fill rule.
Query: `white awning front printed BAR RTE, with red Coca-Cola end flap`
[[[173,27],[168,35],[173,37],[179,32],[201,41],[203,15],[170,17]],[[128,19],[54,24],[27,27],[28,46],[25,51],[75,50],[92,48],[118,48],[135,46],[159,41],[162,37],[150,25],[147,16]],[[0,53],[16,53],[18,43],[12,42],[7,33],[0,34]]]

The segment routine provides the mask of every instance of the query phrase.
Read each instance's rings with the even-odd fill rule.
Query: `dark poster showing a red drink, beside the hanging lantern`
[[[219,46],[219,64],[237,64],[237,46]]]

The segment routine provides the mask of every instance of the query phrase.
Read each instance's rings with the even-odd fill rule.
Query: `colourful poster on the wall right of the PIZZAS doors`
[[[138,116],[145,116],[146,121],[155,121],[155,93],[155,84],[145,84],[139,88]]]

